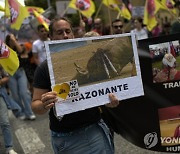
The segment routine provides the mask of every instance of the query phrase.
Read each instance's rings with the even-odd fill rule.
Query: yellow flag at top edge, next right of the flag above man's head
[[[102,3],[110,9],[116,10],[121,13],[121,10],[118,6],[120,4],[118,0],[103,0]]]

